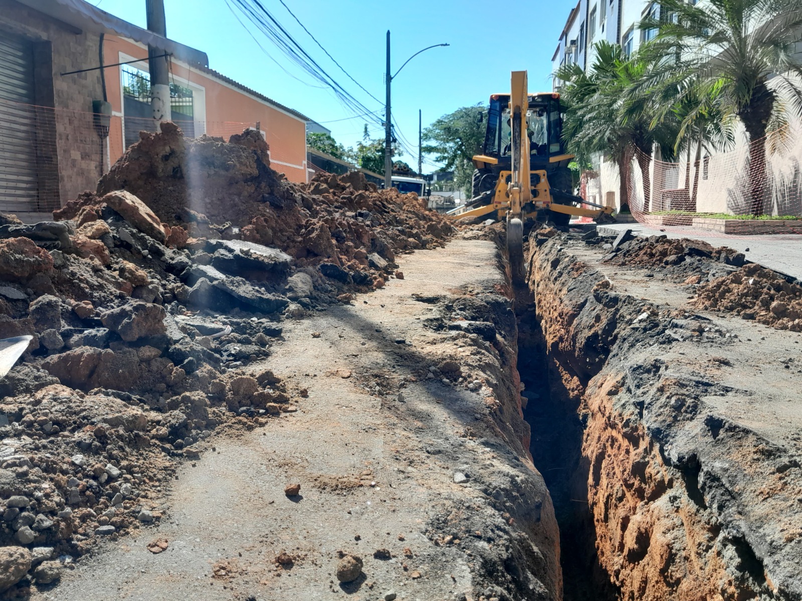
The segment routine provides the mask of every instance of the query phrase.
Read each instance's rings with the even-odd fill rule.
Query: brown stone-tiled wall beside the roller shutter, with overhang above
[[[104,154],[91,115],[92,100],[103,99],[100,71],[60,74],[97,67],[99,36],[76,33],[74,27],[13,0],[0,0],[0,34],[2,30],[35,42],[36,104],[55,108],[37,111],[40,153],[45,155],[40,194],[49,196],[47,204],[64,204],[84,190],[95,190]]]

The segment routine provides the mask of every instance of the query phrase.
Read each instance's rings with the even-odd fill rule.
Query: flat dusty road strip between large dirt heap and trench
[[[540,474],[492,438],[465,434],[487,422],[487,387],[426,377],[444,358],[467,365],[481,353],[464,334],[424,329],[432,305],[411,295],[503,286],[496,247],[455,240],[399,262],[403,280],[295,322],[273,357],[254,366],[308,390],[298,413],[211,439],[178,472],[159,526],[104,543],[34,599],[465,599],[477,564],[488,563],[477,553],[493,551],[476,524],[498,536],[509,517],[479,488],[492,490],[498,478],[534,482],[522,504],[537,507],[545,524],[542,553],[534,550],[550,575],[541,581],[559,587],[557,530]],[[468,481],[455,483],[456,473]],[[285,495],[290,483],[301,485],[299,496]],[[466,510],[476,536],[444,538],[458,538]],[[438,523],[444,529],[435,532]],[[156,538],[168,549],[152,555],[146,546]],[[335,578],[338,551],[363,559],[354,583]],[[282,553],[292,564],[276,562]],[[549,598],[530,580],[532,599]]]

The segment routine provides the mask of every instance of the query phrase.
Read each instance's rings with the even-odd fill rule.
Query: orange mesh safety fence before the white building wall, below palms
[[[704,145],[691,143],[690,156],[687,150],[683,155],[684,160],[666,163],[633,150],[623,169],[624,200],[638,222],[707,236],[802,233],[798,127],[727,152],[708,154]],[[618,172],[605,179],[608,195],[623,196],[619,186]]]

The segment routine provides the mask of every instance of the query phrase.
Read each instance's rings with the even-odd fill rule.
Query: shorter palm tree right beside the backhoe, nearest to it
[[[638,54],[623,54],[621,46],[602,40],[594,46],[596,58],[585,73],[578,65],[561,67],[555,77],[565,82],[567,105],[563,137],[569,150],[585,162],[596,152],[609,152],[620,174],[622,207],[629,204],[630,161],[641,167],[645,207],[649,206],[649,165],[654,143],[671,154],[677,136],[670,119],[654,121],[646,95],[628,91],[645,77],[646,63]]]

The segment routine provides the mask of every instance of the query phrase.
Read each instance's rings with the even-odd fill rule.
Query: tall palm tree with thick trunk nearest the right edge
[[[682,117],[682,131],[707,111],[723,123],[737,117],[749,136],[750,208],[764,212],[768,198],[766,134],[784,107],[802,115],[802,63],[794,56],[802,40],[802,0],[661,0],[660,18],[641,22],[658,29],[642,52],[652,62],[646,88],[672,92],[673,102],[696,108]],[[768,80],[773,78],[772,85]],[[782,96],[787,103],[780,102]]]

